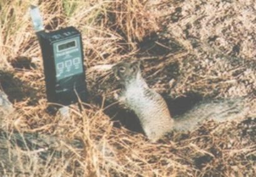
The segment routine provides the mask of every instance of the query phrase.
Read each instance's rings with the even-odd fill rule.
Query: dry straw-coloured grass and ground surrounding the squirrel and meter
[[[31,3],[46,30],[81,31],[90,99],[82,111],[72,105],[70,119],[47,109]],[[0,176],[256,176],[255,4],[0,0],[0,88],[16,109],[0,117]],[[141,60],[147,83],[170,105],[191,95],[242,97],[248,114],[150,143],[112,120],[123,108],[107,69],[126,58]]]

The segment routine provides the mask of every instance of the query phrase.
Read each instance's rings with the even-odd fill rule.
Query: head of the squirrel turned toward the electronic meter
[[[140,74],[140,61],[122,61],[112,67],[116,79],[122,83],[135,79]]]

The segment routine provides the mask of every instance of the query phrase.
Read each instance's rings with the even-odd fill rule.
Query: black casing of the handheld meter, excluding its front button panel
[[[70,35],[64,35],[67,34],[67,32]],[[58,35],[59,38],[54,38],[54,35]],[[82,102],[85,102],[87,95],[85,66],[82,67],[82,73],[58,80],[56,78],[53,49],[53,45],[56,42],[79,37],[81,42],[81,62],[83,63],[84,56],[80,32],[74,27],[67,27],[54,32],[39,31],[37,32],[37,37],[42,50],[47,100],[66,106],[77,102],[78,98],[81,99]]]

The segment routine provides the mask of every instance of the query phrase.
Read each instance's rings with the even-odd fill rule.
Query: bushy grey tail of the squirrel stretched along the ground
[[[193,130],[204,120],[223,122],[246,114],[242,99],[203,101],[183,115],[174,117],[175,130]]]

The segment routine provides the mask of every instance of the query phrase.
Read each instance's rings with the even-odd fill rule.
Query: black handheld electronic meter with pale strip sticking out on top
[[[62,105],[86,101],[80,32],[74,27],[45,32],[37,7],[31,7],[31,17],[42,50],[47,100]]]

